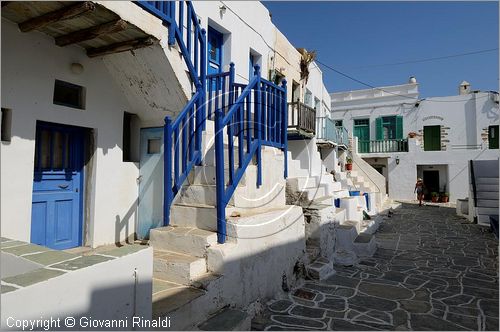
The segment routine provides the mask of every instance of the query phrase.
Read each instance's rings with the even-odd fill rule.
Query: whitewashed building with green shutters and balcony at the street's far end
[[[418,83],[331,94],[334,119],[356,137],[353,148],[383,174],[389,197],[415,199],[417,178],[450,201],[468,197],[468,161],[497,159],[497,92],[419,99]]]

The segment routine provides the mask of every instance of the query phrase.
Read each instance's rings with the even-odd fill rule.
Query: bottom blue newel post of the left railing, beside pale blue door
[[[172,121],[165,117],[163,127],[163,225],[170,223],[170,204],[172,203]]]

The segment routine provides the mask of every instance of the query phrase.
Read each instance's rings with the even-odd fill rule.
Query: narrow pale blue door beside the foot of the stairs
[[[141,129],[137,237],[163,226],[163,128]]]

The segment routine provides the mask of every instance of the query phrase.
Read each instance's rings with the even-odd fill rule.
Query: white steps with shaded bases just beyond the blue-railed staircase
[[[319,154],[310,152],[309,157],[312,163],[322,162]],[[301,206],[306,219],[307,277],[322,280],[335,273],[334,263],[352,265],[359,257],[372,256],[381,217],[363,220],[363,211],[375,215],[375,200],[368,211],[364,196],[349,196],[350,190],[374,192],[371,183],[357,171],[336,172],[334,178],[323,165],[320,174],[312,174],[290,152],[288,165],[287,203]],[[335,199],[340,199],[339,208]]]

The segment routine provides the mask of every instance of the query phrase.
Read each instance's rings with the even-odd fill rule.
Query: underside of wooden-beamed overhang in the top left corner
[[[89,57],[151,46],[157,40],[92,1],[2,1],[2,18],[22,32],[39,31],[57,46],[79,45]]]

